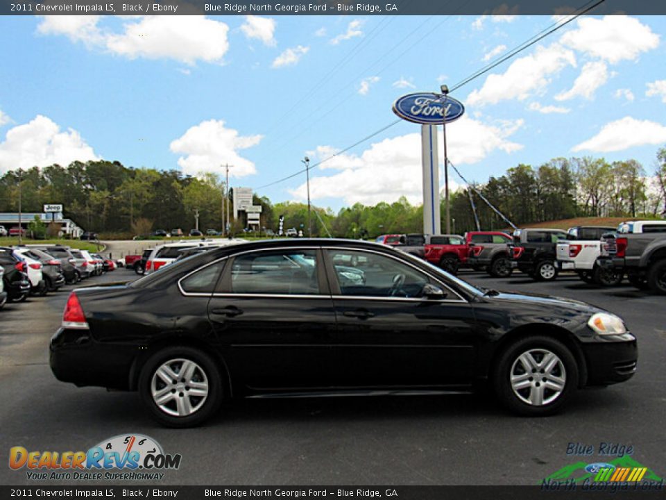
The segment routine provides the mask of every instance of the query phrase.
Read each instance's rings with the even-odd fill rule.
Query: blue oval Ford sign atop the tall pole
[[[465,113],[463,103],[453,97],[433,92],[416,92],[407,94],[393,104],[393,113],[408,122],[436,125],[453,122]]]

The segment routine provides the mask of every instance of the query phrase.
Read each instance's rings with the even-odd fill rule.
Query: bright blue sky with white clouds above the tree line
[[[120,160],[259,188],[395,120],[551,17],[2,17],[0,172]],[[483,182],[556,156],[666,145],[666,19],[585,17],[453,95],[450,158]],[[402,122],[311,172],[314,203],[420,200],[419,127]],[[453,176],[454,181],[459,181]],[[302,199],[304,176],[259,191]]]

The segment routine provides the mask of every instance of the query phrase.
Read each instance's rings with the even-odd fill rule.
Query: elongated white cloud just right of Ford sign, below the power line
[[[504,74],[491,74],[484,85],[473,90],[467,98],[470,105],[496,104],[505,99],[527,99],[532,94],[545,92],[549,76],[565,66],[576,66],[576,56],[559,44],[537,47],[529,56],[511,63]]]

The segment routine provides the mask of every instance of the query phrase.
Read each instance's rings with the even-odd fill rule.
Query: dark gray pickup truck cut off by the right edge
[[[602,252],[600,267],[626,272],[632,285],[666,294],[666,233],[620,234]]]

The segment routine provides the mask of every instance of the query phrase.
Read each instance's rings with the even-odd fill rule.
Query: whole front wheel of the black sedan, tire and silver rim
[[[570,397],[578,382],[571,351],[550,337],[526,337],[499,357],[493,383],[499,400],[519,415],[552,415]]]

